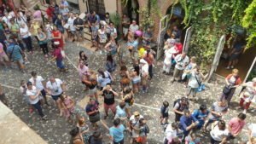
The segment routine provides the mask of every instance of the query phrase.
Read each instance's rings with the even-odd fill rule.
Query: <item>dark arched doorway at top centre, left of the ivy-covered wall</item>
[[[123,7],[123,14],[126,14],[130,20],[137,20],[139,23],[139,3],[138,0],[128,0],[126,6]]]

